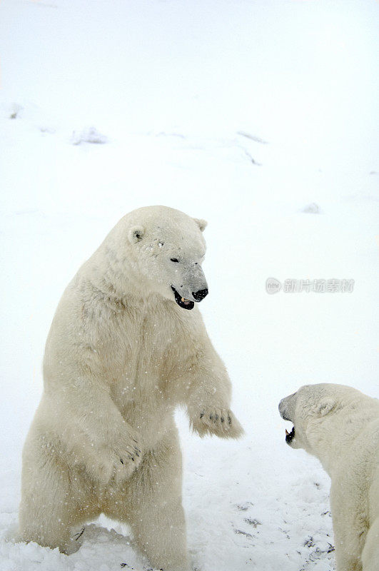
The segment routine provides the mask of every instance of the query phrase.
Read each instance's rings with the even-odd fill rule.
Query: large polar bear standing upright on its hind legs
[[[155,567],[188,571],[174,410],[237,438],[231,383],[195,302],[206,223],[151,206],[123,218],[79,269],[46,342],[44,393],[23,453],[21,537],[69,554],[71,528],[127,522]]]

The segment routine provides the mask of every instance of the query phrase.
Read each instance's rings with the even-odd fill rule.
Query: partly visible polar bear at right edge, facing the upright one
[[[344,385],[305,385],[281,400],[285,440],[315,455],[332,480],[338,571],[379,570],[379,400]]]

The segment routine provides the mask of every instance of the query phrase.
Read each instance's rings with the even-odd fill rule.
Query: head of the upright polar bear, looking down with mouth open
[[[140,297],[156,293],[191,310],[208,294],[201,264],[206,253],[206,221],[166,206],[138,208],[123,218],[113,233],[111,255],[116,273]],[[125,277],[123,276],[123,277]],[[126,291],[125,291],[126,290]]]

